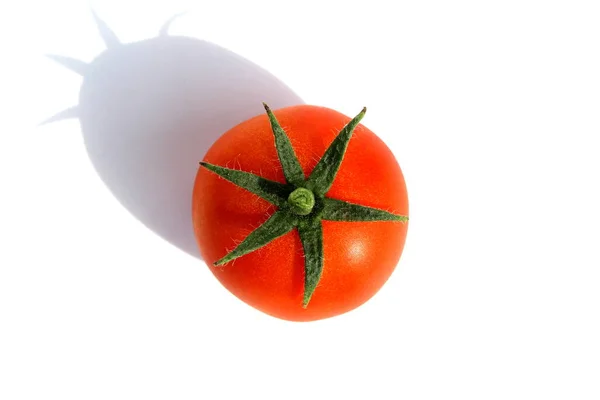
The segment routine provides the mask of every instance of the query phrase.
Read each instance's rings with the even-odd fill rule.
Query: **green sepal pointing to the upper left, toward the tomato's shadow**
[[[206,162],[201,162],[200,165],[278,207],[287,207],[287,198],[294,190],[289,185],[271,181],[250,172],[219,167]]]

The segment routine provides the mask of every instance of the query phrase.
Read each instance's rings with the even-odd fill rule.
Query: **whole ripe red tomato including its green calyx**
[[[192,198],[201,255],[226,289],[273,317],[312,321],[351,311],[379,291],[400,260],[408,227],[408,196],[402,170],[385,143],[358,123],[365,110],[351,119],[313,105],[273,112],[265,107],[266,114],[224,133],[201,163],[206,168],[198,170]],[[352,130],[349,126],[353,123],[355,128],[344,148],[336,138],[344,129]],[[277,128],[289,138],[286,145],[280,131],[282,150],[276,147]],[[296,173],[302,175],[298,172],[301,167],[304,180],[289,172],[290,168],[294,170],[290,157],[286,159],[287,167],[282,167],[281,157],[285,154],[280,152],[289,153],[290,145],[291,158],[295,154],[299,164]],[[330,146],[337,155],[327,155]],[[317,179],[316,175],[326,165],[323,161],[317,166],[319,161],[332,163],[336,157],[341,160],[339,169],[331,167],[327,178],[330,182],[319,188],[325,178]],[[226,173],[235,175],[236,171],[264,178],[262,184],[255,185],[259,191],[268,186],[266,183],[274,182],[272,185],[279,189],[273,190],[281,190],[281,198],[287,197],[288,203],[270,201],[268,196],[234,183],[233,175],[226,177]],[[311,183],[313,176],[316,178]],[[294,180],[295,185],[290,184]],[[296,190],[298,187],[301,189]],[[327,211],[330,203],[337,204],[339,212]],[[371,211],[351,217],[356,210],[348,211],[346,203],[368,207],[383,217],[368,217]],[[298,211],[298,207],[305,207],[306,212]],[[275,214],[284,209],[297,225],[273,233],[291,223],[285,219],[288,217],[274,221]],[[272,226],[265,227],[268,223]],[[271,240],[229,260],[230,252],[236,246],[242,247],[261,226],[261,232],[271,235]],[[309,290],[308,286],[315,287]]]

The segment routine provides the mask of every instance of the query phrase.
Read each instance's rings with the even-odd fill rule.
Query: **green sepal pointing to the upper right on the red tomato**
[[[306,181],[306,187],[312,190],[316,195],[324,196],[331,188],[331,185],[333,185],[335,176],[342,165],[344,154],[348,148],[352,133],[354,133],[354,128],[360,123],[366,112],[367,108],[364,107],[356,117],[352,118],[352,120],[344,126],[313,169],[310,177]]]

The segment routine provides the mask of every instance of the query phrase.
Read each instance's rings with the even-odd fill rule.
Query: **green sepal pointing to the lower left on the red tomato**
[[[214,263],[220,266],[235,260],[245,254],[258,250],[269,242],[285,235],[297,225],[298,219],[292,214],[284,211],[277,211],[261,226],[250,232],[248,236],[225,257]]]

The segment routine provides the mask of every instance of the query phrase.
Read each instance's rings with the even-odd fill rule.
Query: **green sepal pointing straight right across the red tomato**
[[[377,208],[361,206],[346,201],[325,198],[321,218],[327,221],[408,221],[404,215],[396,215]]]

